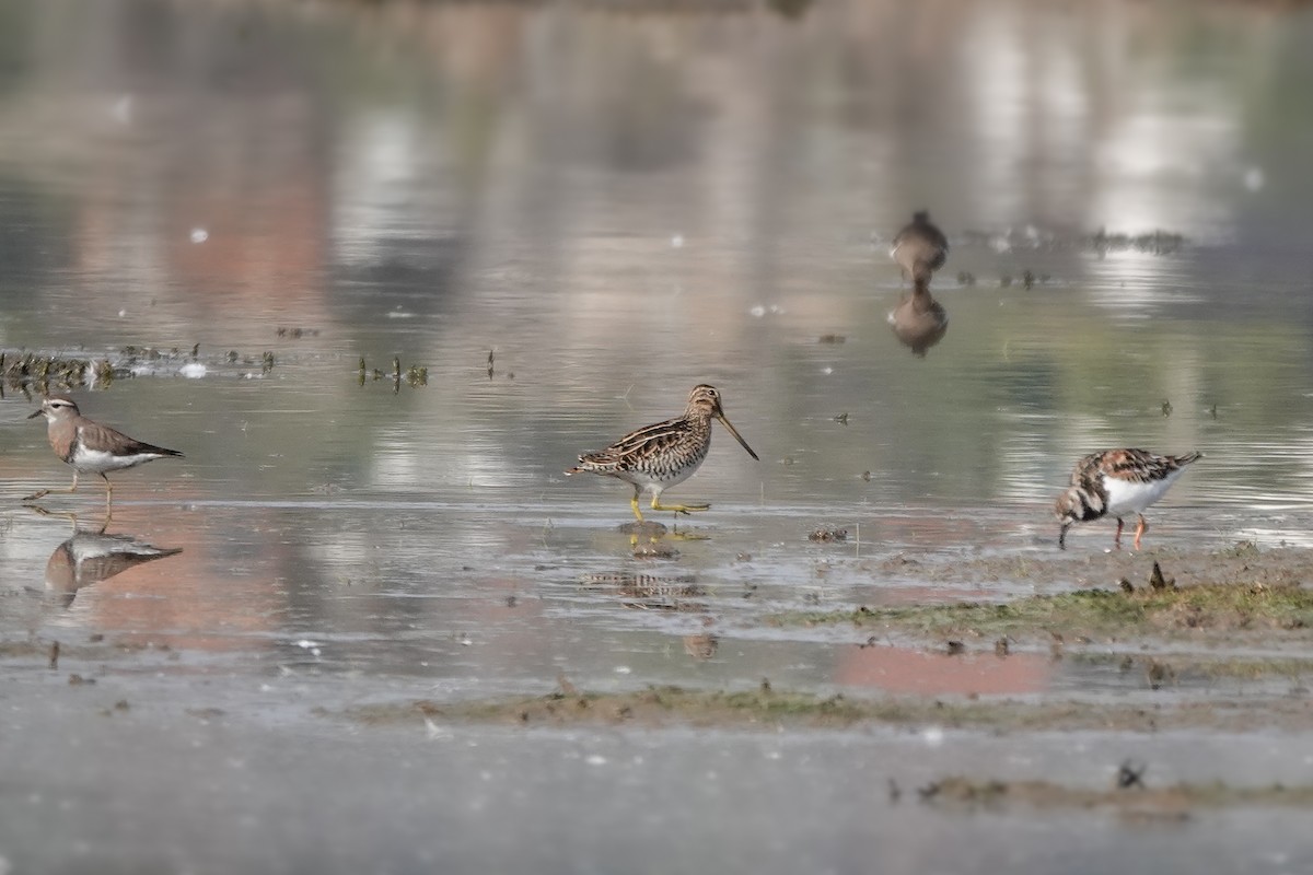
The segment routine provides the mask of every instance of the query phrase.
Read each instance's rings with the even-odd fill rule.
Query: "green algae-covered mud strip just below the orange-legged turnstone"
[[[1129,584],[1127,584],[1129,586]],[[772,626],[851,624],[926,636],[1125,638],[1130,635],[1280,632],[1313,624],[1313,590],[1297,585],[1196,585],[1079,589],[1010,602],[960,602],[773,614]]]

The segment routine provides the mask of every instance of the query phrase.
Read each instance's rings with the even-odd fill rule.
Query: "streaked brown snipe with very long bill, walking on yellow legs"
[[[725,411],[721,407],[721,394],[714,386],[695,386],[688,395],[688,407],[684,415],[641,428],[620,438],[605,450],[584,453],[579,457],[579,464],[567,470],[566,474],[580,474],[591,471],[617,480],[624,480],[634,488],[634,497],[629,504],[634,509],[634,516],[642,521],[643,514],[638,509],[638,499],[643,492],[651,493],[653,510],[672,510],[675,513],[693,513],[706,510],[709,504],[660,504],[660,493],[670,487],[683,483],[697,471],[697,467],[706,458],[706,451],[712,447],[712,420],[720,420],[721,425],[734,436],[748,455],[758,459],[756,453],[747,445],[739,433],[730,425]],[[758,459],[760,460],[760,459]]]

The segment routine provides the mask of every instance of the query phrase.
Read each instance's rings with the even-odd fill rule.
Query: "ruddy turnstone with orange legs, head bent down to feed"
[[[1140,538],[1149,530],[1144,510],[1158,499],[1186,470],[1186,466],[1199,459],[1200,453],[1184,455],[1154,455],[1145,450],[1104,450],[1085,457],[1071,471],[1071,485],[1058,496],[1054,512],[1062,531],[1058,534],[1058,547],[1066,548],[1066,531],[1074,522],[1090,522],[1103,517],[1117,518],[1117,534],[1112,543],[1121,548],[1121,517],[1134,513],[1140,517],[1136,526],[1136,550]]]

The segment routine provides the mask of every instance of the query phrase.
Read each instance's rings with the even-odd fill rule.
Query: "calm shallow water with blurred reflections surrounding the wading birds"
[[[0,346],[110,361],[83,412],[186,454],[116,475],[108,525],[181,552],[70,582],[72,526],[18,501],[70,475],[7,386],[0,638],[105,635],[146,648],[110,674],[238,678],[219,707],[260,714],[299,676],[1153,701],[1098,661],[762,618],[1077,585],[881,563],[1050,556],[1106,446],[1205,453],[1153,548],[1310,543],[1309,12],[0,14]],[[952,244],[924,358],[885,321],[919,207]],[[1157,230],[1182,241],[1116,236]],[[628,487],[562,471],[699,382],[762,462],[717,430],[668,493],[708,538],[635,559]],[[98,496],[43,504],[93,533]]]

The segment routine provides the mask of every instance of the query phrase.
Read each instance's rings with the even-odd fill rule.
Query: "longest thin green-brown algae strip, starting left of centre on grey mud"
[[[759,690],[692,690],[654,686],[626,693],[551,693],[538,697],[435,702],[385,702],[348,708],[337,715],[370,727],[479,725],[634,728],[696,727],[713,729],[843,729],[885,725],[940,727],[987,732],[1120,731],[1169,728],[1246,732],[1302,731],[1313,703],[1302,698],[1183,702],[1152,706],[1103,702],[1035,702],[993,698],[846,697]]]

